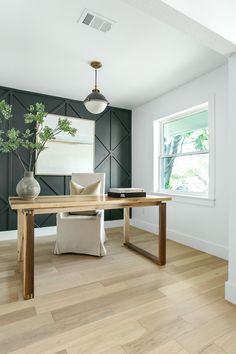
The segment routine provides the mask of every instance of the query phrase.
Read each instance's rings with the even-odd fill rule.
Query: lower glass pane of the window
[[[162,189],[208,193],[208,154],[161,159]]]

